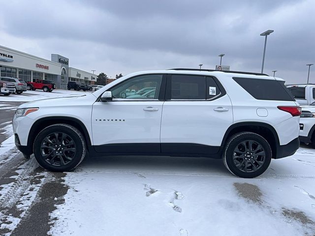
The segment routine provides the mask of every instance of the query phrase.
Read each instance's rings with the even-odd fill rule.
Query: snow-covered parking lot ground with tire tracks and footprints
[[[2,98],[0,118],[14,112]],[[49,173],[14,147],[10,121],[0,125],[0,235],[315,235],[308,146],[254,179],[187,157],[87,157],[74,172]]]

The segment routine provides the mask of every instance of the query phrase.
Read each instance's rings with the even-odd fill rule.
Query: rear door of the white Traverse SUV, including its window
[[[232,122],[231,101],[216,78],[168,75],[161,152],[215,154]]]

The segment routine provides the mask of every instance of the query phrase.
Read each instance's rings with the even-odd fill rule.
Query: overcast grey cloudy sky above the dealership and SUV
[[[305,83],[315,63],[315,0],[6,0],[0,45],[109,77],[174,67],[231,70]],[[310,82],[315,83],[315,66]]]

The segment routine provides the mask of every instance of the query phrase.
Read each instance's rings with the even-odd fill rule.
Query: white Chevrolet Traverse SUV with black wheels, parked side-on
[[[126,90],[153,87],[154,97]],[[239,177],[257,177],[272,158],[299,148],[301,110],[279,78],[248,72],[171,69],[121,77],[92,94],[21,105],[17,148],[49,171],[85,157],[168,155],[222,158]]]

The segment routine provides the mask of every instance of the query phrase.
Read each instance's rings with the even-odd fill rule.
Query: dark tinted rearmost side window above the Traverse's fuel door
[[[294,101],[284,81],[252,78],[233,78],[243,89],[258,100]]]

